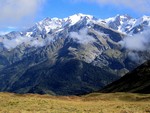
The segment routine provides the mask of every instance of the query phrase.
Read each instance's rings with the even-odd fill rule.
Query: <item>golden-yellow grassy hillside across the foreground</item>
[[[150,95],[94,93],[55,97],[0,93],[0,113],[150,113]]]

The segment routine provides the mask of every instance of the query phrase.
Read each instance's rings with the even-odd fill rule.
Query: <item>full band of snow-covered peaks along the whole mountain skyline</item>
[[[89,24],[90,23],[90,24]],[[74,14],[67,18],[45,18],[40,22],[36,23],[33,27],[23,31],[23,34],[20,32],[15,32],[14,37],[26,36],[26,37],[37,37],[43,36],[50,33],[58,33],[65,28],[78,24],[78,26],[86,27],[87,25],[90,26],[92,24],[99,24],[99,25],[106,25],[111,29],[117,30],[124,34],[135,34],[140,31],[143,31],[150,27],[150,17],[143,16],[139,19],[131,18],[129,15],[116,15],[115,17],[111,17],[108,19],[97,19],[94,16],[86,15],[86,14]],[[13,36],[11,33],[11,38]],[[8,39],[10,36],[8,36]]]

